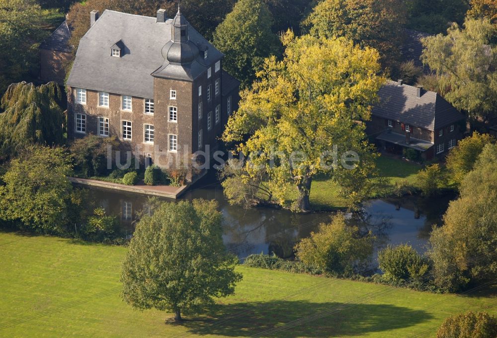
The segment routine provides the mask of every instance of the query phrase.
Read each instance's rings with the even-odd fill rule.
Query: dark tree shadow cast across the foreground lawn
[[[323,318],[310,320],[278,333],[270,330],[323,311],[336,311]],[[370,332],[381,332],[413,326],[432,318],[421,310],[412,310],[388,304],[350,304],[308,301],[270,301],[237,303],[216,306],[213,320],[192,319],[182,325],[192,334],[219,336],[252,336],[261,334],[266,337],[342,337],[357,336]]]

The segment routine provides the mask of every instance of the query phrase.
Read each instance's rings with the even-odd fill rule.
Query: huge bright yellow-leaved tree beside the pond
[[[370,105],[384,79],[377,75],[379,55],[371,48],[361,49],[344,38],[295,38],[291,32],[283,41],[283,60],[265,61],[253,88],[242,92],[240,109],[230,117],[223,140],[250,156],[247,182],[256,181],[262,168],[265,186],[278,203],[285,204],[293,185],[298,190],[295,209],[307,211],[318,173],[333,172],[338,183],[349,182],[353,195],[354,184],[371,172],[360,121],[370,118]],[[346,151],[363,156],[347,170],[353,163],[330,164],[334,150],[338,157]],[[346,173],[355,175],[354,182]]]

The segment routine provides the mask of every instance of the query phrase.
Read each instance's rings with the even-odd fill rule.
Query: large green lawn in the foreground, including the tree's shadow
[[[471,296],[436,295],[240,266],[244,279],[212,312],[217,318],[165,324],[170,314],[134,311],[120,300],[125,252],[0,233],[0,337],[247,337],[324,311],[328,316],[263,336],[432,337],[451,314],[497,312],[497,288]]]

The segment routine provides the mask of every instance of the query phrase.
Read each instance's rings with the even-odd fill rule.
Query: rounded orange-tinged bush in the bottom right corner
[[[436,338],[494,337],[497,337],[497,317],[472,311],[447,318],[436,333]]]

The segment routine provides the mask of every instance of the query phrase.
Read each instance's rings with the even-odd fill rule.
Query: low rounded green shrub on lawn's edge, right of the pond
[[[385,277],[394,281],[419,280],[428,271],[425,259],[407,244],[389,245],[378,253],[378,262]]]

